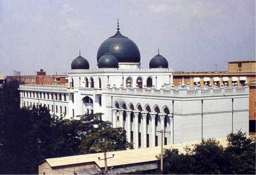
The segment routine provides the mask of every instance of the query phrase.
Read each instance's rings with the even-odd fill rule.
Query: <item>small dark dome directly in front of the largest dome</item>
[[[111,55],[110,53],[106,53],[102,57],[100,57],[98,61],[99,68],[118,68],[118,61],[116,57]]]

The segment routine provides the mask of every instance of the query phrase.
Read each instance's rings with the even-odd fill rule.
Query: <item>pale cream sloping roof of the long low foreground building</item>
[[[218,141],[223,146],[227,145],[226,138],[218,139]],[[165,149],[177,148],[180,153],[185,153],[185,150],[183,149],[185,146],[192,146],[196,143],[199,143],[199,142],[165,145],[164,148]],[[156,161],[157,160],[156,155],[159,155],[160,153],[161,153],[161,146],[156,146],[152,148],[140,148],[140,149],[107,152],[107,157],[112,157],[112,155],[114,154],[113,158],[108,159],[108,167]],[[100,157],[100,160],[98,159],[98,157]],[[100,168],[105,167],[103,153],[83,154],[83,155],[67,156],[67,157],[60,157],[60,158],[51,158],[51,159],[45,159],[45,160],[51,167],[89,163],[89,162],[95,162]]]

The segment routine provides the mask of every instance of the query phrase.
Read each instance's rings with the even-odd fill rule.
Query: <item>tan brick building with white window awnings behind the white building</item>
[[[175,86],[182,82],[191,86],[201,86],[205,83],[209,86],[237,86],[242,87],[247,79],[250,86],[249,98],[249,131],[256,132],[256,60],[228,61],[228,71],[212,72],[174,72],[173,83]]]

